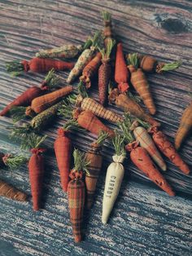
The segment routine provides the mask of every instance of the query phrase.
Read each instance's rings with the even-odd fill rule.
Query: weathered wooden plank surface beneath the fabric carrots
[[[6,60],[29,60],[39,49],[84,42],[91,33],[103,29],[100,16],[103,7],[112,14],[116,38],[124,43],[125,52],[183,61],[177,72],[148,76],[158,110],[156,118],[173,141],[192,91],[191,1],[0,0],[0,108],[26,88],[38,85],[44,77],[27,73],[13,78],[5,70]],[[64,78],[68,75],[61,74]],[[98,99],[96,84],[90,95]],[[0,255],[190,255],[192,179],[169,161],[165,176],[179,196],[170,198],[161,192],[128,159],[118,201],[109,223],[103,226],[103,186],[112,156],[108,143],[103,150],[106,161],[96,202],[89,214],[85,212],[85,241],[74,245],[67,195],[61,191],[51,150],[55,130],[62,124],[62,120],[55,121],[45,133],[50,136],[46,141],[50,149],[46,154],[44,210],[33,213],[31,202],[20,204],[0,198]],[[11,119],[1,117],[0,149],[19,152],[19,145],[8,138],[7,126],[11,126]],[[86,150],[95,136],[84,132],[73,134],[72,138],[77,148]],[[190,166],[191,146],[190,137],[181,148],[181,156]],[[30,194],[26,167],[1,170],[0,178]]]

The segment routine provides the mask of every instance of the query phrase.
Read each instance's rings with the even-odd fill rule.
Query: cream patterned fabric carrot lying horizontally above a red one
[[[72,44],[69,44],[55,47],[53,49],[39,51],[36,53],[36,57],[72,59],[75,58],[76,55],[80,54],[81,51],[83,51],[83,46],[74,46]]]

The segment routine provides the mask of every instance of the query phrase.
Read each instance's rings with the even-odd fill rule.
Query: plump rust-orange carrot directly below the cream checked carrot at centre
[[[106,131],[111,137],[115,135],[113,130],[105,126],[103,122],[90,111],[76,109],[73,111],[73,118],[78,122],[79,126],[85,130],[89,130],[94,135],[98,135],[102,130]]]

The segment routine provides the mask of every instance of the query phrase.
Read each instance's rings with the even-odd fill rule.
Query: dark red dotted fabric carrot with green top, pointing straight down
[[[109,38],[107,40],[106,51],[104,49],[100,50],[102,54],[102,64],[100,68],[98,68],[98,95],[100,104],[102,105],[106,104],[107,101],[107,89],[111,80],[110,55],[115,44],[116,41]]]

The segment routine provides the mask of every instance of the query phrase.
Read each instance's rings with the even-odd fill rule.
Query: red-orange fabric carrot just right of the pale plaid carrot
[[[172,161],[172,163],[177,166],[184,174],[190,174],[189,166],[187,166],[181,159],[180,155],[177,153],[177,150],[168,140],[168,137],[164,135],[164,133],[156,126],[152,126],[149,129],[149,132],[152,134],[153,140],[159,150],[163,152],[163,154],[168,157],[168,159]]]

